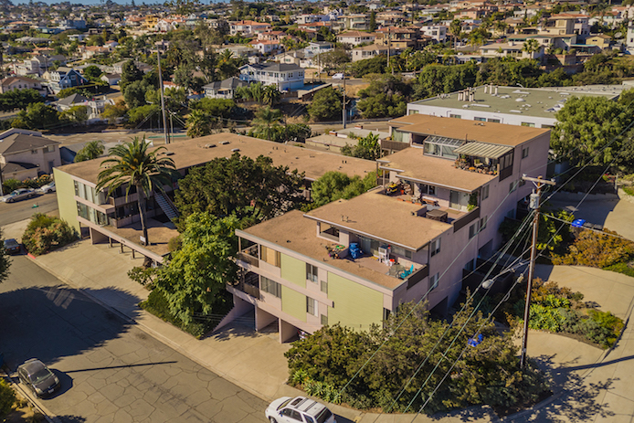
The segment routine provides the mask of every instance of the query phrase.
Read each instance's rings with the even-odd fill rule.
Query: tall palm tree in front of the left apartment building
[[[165,147],[159,147],[148,152],[145,137],[132,138],[132,143],[123,143],[110,149],[109,159],[101,162],[105,167],[98,176],[96,190],[107,187],[108,195],[122,185],[126,185],[125,197],[128,198],[132,186],[136,188],[137,203],[141,214],[141,228],[143,230],[143,245],[150,245],[147,237],[147,217],[145,216],[145,199],[153,190],[164,192],[163,185],[172,183],[172,178],[178,175],[174,160],[161,154]]]

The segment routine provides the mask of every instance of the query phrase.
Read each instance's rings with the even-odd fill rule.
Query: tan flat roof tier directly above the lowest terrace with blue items
[[[451,227],[416,216],[423,207],[375,190],[350,200],[333,201],[308,212],[306,217],[417,251]]]

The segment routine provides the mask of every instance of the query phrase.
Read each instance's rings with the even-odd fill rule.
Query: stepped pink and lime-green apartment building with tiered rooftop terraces
[[[325,324],[367,330],[426,295],[445,314],[525,207],[522,174],[546,170],[549,130],[423,115],[390,125],[404,148],[377,161],[375,189],[236,231],[235,316],[255,309],[256,328],[277,322],[285,342]]]

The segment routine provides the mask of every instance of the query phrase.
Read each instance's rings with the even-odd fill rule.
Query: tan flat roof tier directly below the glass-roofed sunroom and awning
[[[427,156],[422,148],[417,147],[387,155],[379,162],[381,169],[402,171],[397,174],[398,177],[468,193],[497,177],[456,168],[453,160]]]

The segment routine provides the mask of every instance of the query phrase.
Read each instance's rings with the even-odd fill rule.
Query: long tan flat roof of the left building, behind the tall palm
[[[211,145],[214,147],[207,148]],[[233,150],[238,149],[238,153],[253,159],[260,155],[268,156],[273,159],[274,165],[288,166],[291,171],[298,169],[300,172],[304,172],[305,177],[310,180],[315,180],[328,171],[338,171],[349,176],[358,175],[363,178],[366,174],[376,170],[376,163],[369,160],[309,150],[283,143],[273,143],[230,132],[177,141],[166,145],[166,147],[169,152],[174,153],[170,157],[174,160],[177,169],[206,164],[218,157],[230,157]],[[100,157],[86,162],[66,164],[58,169],[92,184],[97,184],[97,176],[102,170],[100,164],[103,160],[104,158]]]

